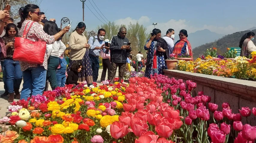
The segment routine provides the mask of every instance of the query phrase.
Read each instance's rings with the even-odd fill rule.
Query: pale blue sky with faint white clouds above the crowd
[[[156,28],[162,31],[173,28],[175,31],[186,29],[189,33],[209,29],[219,34],[231,34],[256,26],[256,1],[245,3],[241,0],[86,0],[87,6],[103,22],[105,21],[98,15],[100,11],[97,13],[89,1],[96,10],[98,7],[109,21],[117,24],[138,21],[147,27],[148,31],[153,29],[151,24],[156,22],[159,24]],[[62,17],[72,20],[73,28],[82,21],[80,0],[42,0],[40,9],[46,12],[47,19],[55,18],[58,26]],[[88,30],[102,24],[86,6],[85,24]]]

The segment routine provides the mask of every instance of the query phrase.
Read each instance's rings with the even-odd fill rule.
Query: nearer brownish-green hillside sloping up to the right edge
[[[210,49],[212,47],[216,47],[219,54],[224,54],[227,50],[227,47],[239,47],[239,42],[242,36],[247,32],[249,31],[246,30],[241,32],[235,32],[233,34],[225,35],[224,37],[214,42],[198,46],[193,49],[193,57],[198,57],[199,54],[203,54],[204,52],[206,52],[207,49]],[[256,29],[252,30],[252,32],[256,33]],[[256,43],[256,40],[254,40],[253,42]]]

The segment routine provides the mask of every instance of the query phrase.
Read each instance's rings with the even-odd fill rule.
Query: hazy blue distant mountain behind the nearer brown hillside
[[[190,33],[188,40],[193,49],[202,44],[218,40],[219,38],[222,38],[223,36],[224,36],[223,34],[218,34],[215,32],[211,32],[208,29],[204,29],[204,30],[196,31],[194,33]]]

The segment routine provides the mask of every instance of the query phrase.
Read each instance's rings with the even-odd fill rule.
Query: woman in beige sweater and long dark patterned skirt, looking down
[[[69,73],[74,62],[82,62],[83,69],[79,73],[78,81],[87,81],[87,83],[90,85],[93,82],[93,77],[88,50],[90,45],[87,43],[87,38],[83,34],[85,32],[85,28],[85,24],[83,22],[79,22],[76,29],[69,37],[70,62],[67,68],[67,73]]]

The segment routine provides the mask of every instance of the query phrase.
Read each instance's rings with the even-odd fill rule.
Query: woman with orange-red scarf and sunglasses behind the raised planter
[[[191,58],[193,59],[193,54],[192,54],[192,48],[191,45],[188,41],[188,32],[187,30],[180,30],[180,34],[179,34],[180,40],[178,40],[175,44],[174,44],[174,49],[173,49],[173,54],[187,54],[190,55]]]

